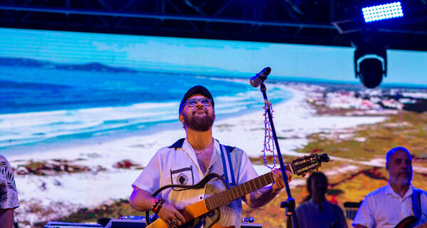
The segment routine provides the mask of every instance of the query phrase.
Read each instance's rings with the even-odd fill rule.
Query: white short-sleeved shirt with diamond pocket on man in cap
[[[235,148],[230,154],[237,185],[258,177],[243,150]],[[211,172],[221,176],[224,174],[220,144],[217,140],[214,140],[214,152],[206,174]],[[133,182],[132,187],[137,186],[142,190],[154,193],[164,185],[196,185],[203,177],[204,173],[201,172],[193,148],[187,140],[184,140],[181,148],[163,147],[158,150],[137,180]],[[158,197],[167,199],[168,202],[182,209],[225,189],[220,181],[211,181],[205,187],[196,190],[175,191],[169,188],[162,191]],[[241,199],[234,200],[221,207],[220,210],[221,219],[218,224],[241,226]]]

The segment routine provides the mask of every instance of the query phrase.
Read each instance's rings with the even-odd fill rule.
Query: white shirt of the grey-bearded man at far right
[[[380,187],[365,197],[353,220],[355,224],[365,227],[396,227],[401,220],[413,216],[412,210],[412,185],[401,197],[390,184]],[[421,219],[417,225],[427,222],[427,192],[421,191]]]

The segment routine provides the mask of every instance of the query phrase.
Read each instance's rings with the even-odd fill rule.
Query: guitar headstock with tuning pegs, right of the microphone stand
[[[322,162],[329,162],[330,157],[327,154],[317,155],[311,154],[304,157],[298,157],[289,164],[293,173],[295,175],[301,175],[304,177],[307,172],[311,172],[315,170],[316,172],[319,170]]]

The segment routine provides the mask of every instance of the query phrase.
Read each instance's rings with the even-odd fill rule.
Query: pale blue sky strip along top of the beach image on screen
[[[0,28],[0,41],[0,57],[248,77],[270,66],[272,76],[358,81],[354,48],[13,28]],[[427,85],[427,52],[387,53],[384,83]]]

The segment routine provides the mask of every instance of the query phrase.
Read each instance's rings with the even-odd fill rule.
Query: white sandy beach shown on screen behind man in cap
[[[267,84],[267,88],[269,88]],[[310,86],[280,86],[290,90],[292,99],[273,104],[275,110],[275,128],[279,137],[280,150],[283,155],[300,156],[295,152],[307,143],[307,135],[318,132],[330,132],[342,128],[354,128],[357,125],[378,123],[384,117],[337,117],[316,116],[315,110],[305,101]],[[259,93],[259,98],[262,94]],[[178,121],[178,120],[176,120]],[[263,148],[264,125],[263,109],[233,118],[226,118],[214,123],[214,138],[226,145],[241,147],[251,157],[260,157]],[[161,147],[172,145],[179,138],[184,138],[182,128],[162,130],[149,135],[132,136],[110,140],[100,144],[76,145],[50,149],[37,153],[9,155],[12,167],[24,164],[28,160],[77,160],[76,165],[88,167],[101,166],[105,171],[83,172],[54,176],[25,175],[16,176],[21,207],[16,210],[16,220],[31,222],[56,219],[70,214],[79,207],[95,207],[112,202],[115,199],[127,199],[132,192],[131,184],[141,170],[124,170],[113,167],[122,160],[131,160],[139,165],[146,165],[154,153]],[[78,160],[79,159],[79,160]],[[268,168],[255,165],[258,174],[268,172]],[[291,186],[303,185],[301,181],[292,182]],[[48,216],[29,212],[31,204],[42,207],[58,207]],[[58,206],[60,204],[60,207]],[[56,206],[55,206],[56,205]]]

